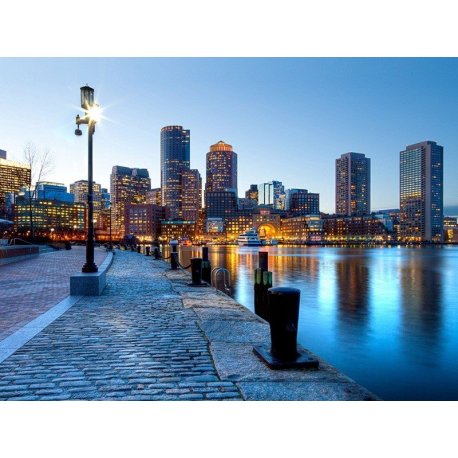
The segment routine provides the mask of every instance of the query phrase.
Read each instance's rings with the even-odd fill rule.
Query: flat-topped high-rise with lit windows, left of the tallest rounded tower
[[[125,207],[127,204],[146,202],[146,194],[151,189],[148,170],[131,169],[115,165],[110,175],[112,231],[113,237],[125,235]]]

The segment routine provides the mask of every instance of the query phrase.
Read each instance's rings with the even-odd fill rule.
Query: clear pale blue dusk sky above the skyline
[[[458,212],[456,58],[0,58],[0,149],[21,161],[27,142],[51,150],[46,177],[87,179],[87,129],[76,137],[79,88],[103,108],[94,179],[114,165],[147,168],[160,186],[160,129],[191,131],[191,167],[205,182],[210,145],[238,155],[238,190],[282,181],[334,211],[335,159],[371,158],[372,210],[399,207],[399,152],[444,147],[444,205]],[[452,209],[450,207],[453,207]],[[456,207],[456,208],[455,208]]]

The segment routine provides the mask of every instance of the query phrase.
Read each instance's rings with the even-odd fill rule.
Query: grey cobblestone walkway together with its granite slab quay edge
[[[80,298],[0,363],[0,399],[375,399],[324,362],[268,369],[252,352],[270,341],[268,324],[189,281],[163,261],[116,251],[102,296]]]

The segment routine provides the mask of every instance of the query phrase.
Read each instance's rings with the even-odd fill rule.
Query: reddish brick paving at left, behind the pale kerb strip
[[[95,249],[95,262],[106,257]],[[70,276],[80,272],[86,248],[46,253],[0,266],[0,340],[49,310],[70,294]]]

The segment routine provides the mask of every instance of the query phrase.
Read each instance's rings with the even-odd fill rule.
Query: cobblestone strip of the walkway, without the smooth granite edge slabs
[[[174,286],[164,266],[117,251],[102,296],[82,298],[0,364],[0,399],[241,399],[183,305],[185,282]]]

